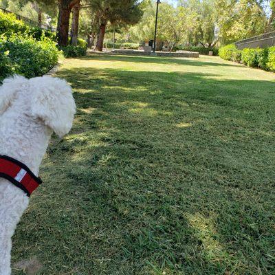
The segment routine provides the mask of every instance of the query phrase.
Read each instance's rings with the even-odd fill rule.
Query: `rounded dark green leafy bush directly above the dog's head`
[[[30,36],[11,36],[4,41],[3,50],[8,51],[13,72],[28,78],[46,74],[56,65],[60,54],[50,39],[36,41]]]

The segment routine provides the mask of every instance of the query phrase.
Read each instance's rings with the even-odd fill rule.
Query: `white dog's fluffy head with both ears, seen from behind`
[[[72,128],[76,104],[72,89],[65,80],[43,76],[27,80],[21,76],[8,78],[0,87],[0,115],[17,99],[28,97],[28,113],[41,120],[59,137]]]

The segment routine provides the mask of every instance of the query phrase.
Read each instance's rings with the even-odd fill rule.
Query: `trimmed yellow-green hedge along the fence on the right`
[[[219,56],[228,61],[275,72],[275,47],[238,50],[235,45],[231,44],[221,47]]]

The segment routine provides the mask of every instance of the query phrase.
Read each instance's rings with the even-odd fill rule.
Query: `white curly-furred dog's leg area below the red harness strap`
[[[15,186],[0,192],[0,275],[11,274],[12,235],[28,201],[28,197]]]

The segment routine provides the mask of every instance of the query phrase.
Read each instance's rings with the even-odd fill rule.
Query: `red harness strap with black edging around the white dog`
[[[0,155],[0,177],[8,179],[23,190],[28,197],[42,184],[41,178],[36,177],[25,164],[6,155]]]

